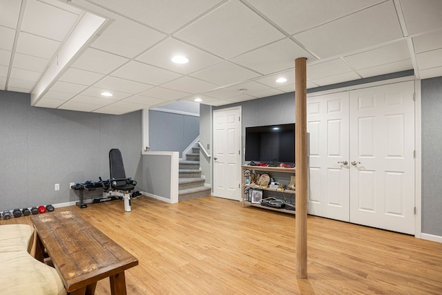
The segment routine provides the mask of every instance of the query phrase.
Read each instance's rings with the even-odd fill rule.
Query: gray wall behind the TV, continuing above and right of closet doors
[[[345,86],[365,84],[413,75],[407,70],[389,75],[359,79],[324,87],[309,89],[308,93],[326,91]],[[442,77],[423,79],[422,99],[422,233],[442,236]],[[253,125],[282,124],[294,122],[294,93],[254,99],[238,104],[213,107],[213,110],[242,106],[242,146],[245,127]],[[206,113],[200,113],[203,118]],[[203,120],[203,119],[202,119]],[[244,164],[244,155],[243,155]]]

